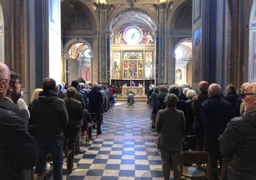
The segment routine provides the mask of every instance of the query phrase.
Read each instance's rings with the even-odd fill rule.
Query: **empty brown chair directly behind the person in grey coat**
[[[198,167],[183,166],[184,163],[196,164]],[[206,172],[204,171],[204,168],[200,166],[201,164],[206,164]],[[210,156],[206,151],[183,151],[181,154],[180,165],[177,168],[179,172],[179,180],[181,180],[181,176],[191,178],[191,180],[209,177]]]

